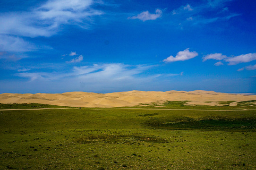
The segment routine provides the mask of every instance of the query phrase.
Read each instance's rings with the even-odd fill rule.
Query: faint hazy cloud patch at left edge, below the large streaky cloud
[[[33,44],[24,41],[22,38],[0,34],[0,51],[26,52],[36,49]]]

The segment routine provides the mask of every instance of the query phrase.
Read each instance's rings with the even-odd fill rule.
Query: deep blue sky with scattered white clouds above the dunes
[[[254,0],[0,0],[0,93],[256,92]]]

